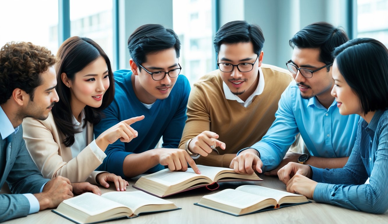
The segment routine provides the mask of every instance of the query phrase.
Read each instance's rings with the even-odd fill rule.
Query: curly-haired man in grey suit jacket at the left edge
[[[31,43],[7,43],[0,50],[0,186],[13,194],[0,194],[0,222],[57,207],[73,192],[100,193],[89,183],[44,179],[23,140],[24,117],[46,119],[58,95],[54,55]]]

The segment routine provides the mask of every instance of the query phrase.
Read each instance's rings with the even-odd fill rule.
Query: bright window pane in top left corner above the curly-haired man
[[[58,51],[58,1],[0,1],[0,46],[11,41],[31,42]]]

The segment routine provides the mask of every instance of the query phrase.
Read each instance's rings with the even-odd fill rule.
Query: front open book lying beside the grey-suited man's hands
[[[96,223],[118,218],[133,218],[140,213],[177,210],[174,203],[141,191],[108,192],[98,196],[84,193],[64,200],[57,209],[58,215],[75,223]]]

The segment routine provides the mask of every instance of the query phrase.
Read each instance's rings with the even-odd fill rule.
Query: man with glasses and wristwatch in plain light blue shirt
[[[286,65],[295,81],[282,94],[276,119],[267,134],[252,147],[242,149],[230,168],[242,173],[272,170],[266,174],[276,175],[289,162],[320,168],[346,164],[357,135],[359,115],[340,115],[330,92],[334,85],[331,53],[347,40],[343,30],[324,22],[310,24],[291,38],[293,55]],[[298,133],[308,154],[286,154]]]

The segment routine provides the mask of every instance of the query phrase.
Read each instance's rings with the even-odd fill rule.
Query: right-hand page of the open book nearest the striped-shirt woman
[[[293,194],[285,191],[279,191],[268,187],[262,187],[257,185],[242,185],[236,188],[236,190],[256,194],[260,196],[270,197],[279,201],[285,196],[300,196],[299,194]]]

